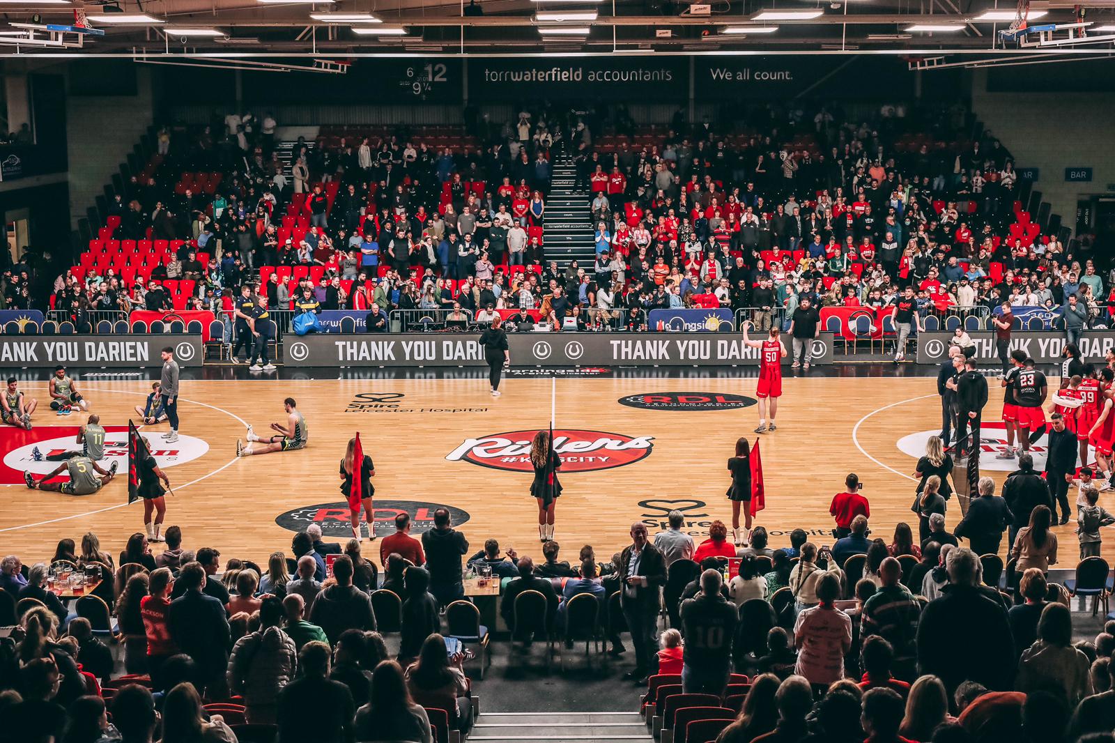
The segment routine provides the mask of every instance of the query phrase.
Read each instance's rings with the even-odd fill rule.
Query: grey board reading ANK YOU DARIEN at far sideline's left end
[[[178,366],[201,366],[201,336],[2,336],[0,368],[161,367],[163,348],[172,347]]]

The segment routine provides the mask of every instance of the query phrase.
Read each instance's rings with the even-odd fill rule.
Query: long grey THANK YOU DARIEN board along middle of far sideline
[[[485,366],[473,334],[309,335],[283,341],[287,366]],[[757,366],[758,349],[738,334],[508,334],[512,367]],[[787,349],[789,339],[786,339]],[[832,364],[833,339],[813,341],[813,364]],[[789,359],[786,359],[788,363]]]

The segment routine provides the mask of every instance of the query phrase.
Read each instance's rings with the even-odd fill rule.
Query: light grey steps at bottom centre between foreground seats
[[[546,208],[550,211],[550,208]],[[549,229],[549,226],[547,226]],[[477,717],[468,741],[619,741],[650,743],[638,712],[485,712]]]

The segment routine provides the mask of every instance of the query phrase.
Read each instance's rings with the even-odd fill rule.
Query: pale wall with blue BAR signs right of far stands
[[[989,93],[987,88],[987,70],[975,70],[976,115],[1015,155],[1016,167],[1040,168],[1034,187],[1075,233],[1076,200],[1107,193],[1107,184],[1115,183],[1115,94]],[[1090,183],[1065,181],[1065,168],[1076,166],[1093,168]]]

